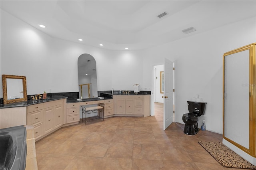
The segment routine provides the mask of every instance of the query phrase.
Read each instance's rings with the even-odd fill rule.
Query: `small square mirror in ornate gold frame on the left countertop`
[[[4,104],[27,101],[26,77],[2,75]]]

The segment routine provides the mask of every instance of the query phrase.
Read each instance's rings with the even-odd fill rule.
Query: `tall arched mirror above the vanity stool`
[[[98,97],[96,61],[90,54],[78,57],[79,99]]]

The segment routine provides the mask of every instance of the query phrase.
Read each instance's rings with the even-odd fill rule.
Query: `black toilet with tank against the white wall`
[[[184,133],[188,135],[195,135],[199,132],[198,118],[204,115],[206,103],[205,102],[188,102],[188,111],[182,116],[182,121],[185,123]]]

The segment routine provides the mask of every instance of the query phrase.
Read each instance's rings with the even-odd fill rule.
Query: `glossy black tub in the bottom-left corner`
[[[26,128],[3,128],[0,132],[0,170],[21,170],[26,167]]]

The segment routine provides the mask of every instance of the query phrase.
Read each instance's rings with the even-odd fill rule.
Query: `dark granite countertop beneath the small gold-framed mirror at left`
[[[47,97],[46,99],[38,99],[38,100],[28,100],[26,102],[19,102],[19,103],[10,103],[10,104],[2,104],[0,105],[0,109],[4,108],[11,108],[11,107],[25,107],[29,105],[44,103],[48,101],[66,99],[66,96],[54,96],[54,97]]]

